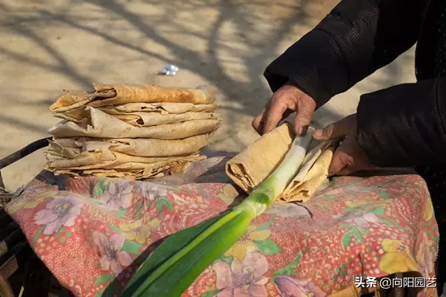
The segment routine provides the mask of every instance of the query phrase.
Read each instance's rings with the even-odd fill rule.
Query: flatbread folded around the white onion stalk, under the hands
[[[293,142],[293,131],[285,123],[259,138],[226,163],[226,175],[250,193],[284,159]],[[328,177],[328,168],[337,143],[319,143],[305,156],[298,174],[276,202],[306,201]]]

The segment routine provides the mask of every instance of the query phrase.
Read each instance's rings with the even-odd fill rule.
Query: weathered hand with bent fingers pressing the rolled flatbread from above
[[[266,104],[265,109],[252,121],[252,127],[263,135],[277,127],[281,120],[297,112],[294,120],[295,133],[298,136],[307,134],[307,128],[316,109],[316,102],[291,83],[279,88]]]

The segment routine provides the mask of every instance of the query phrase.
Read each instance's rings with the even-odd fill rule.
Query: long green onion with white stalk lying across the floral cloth
[[[310,127],[306,136],[296,137],[279,167],[238,206],[164,240],[134,273],[123,296],[181,296],[282,194],[302,165],[313,131]]]

